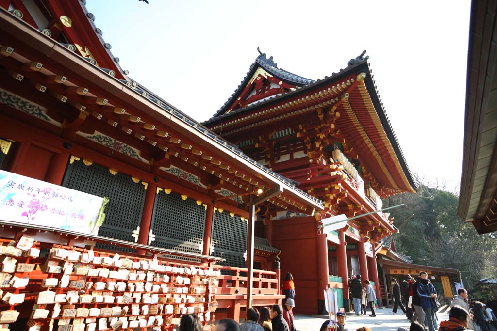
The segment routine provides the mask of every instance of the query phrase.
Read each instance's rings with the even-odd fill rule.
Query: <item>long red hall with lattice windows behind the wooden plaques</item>
[[[98,237],[0,216],[0,241],[91,242],[100,254],[216,268],[217,320],[238,320],[247,302],[279,303],[279,250],[253,237],[253,220],[273,204],[310,215],[323,202],[128,77],[85,1],[0,7],[0,170],[110,200]],[[8,201],[2,207],[20,208]],[[19,321],[31,313],[26,302]]]

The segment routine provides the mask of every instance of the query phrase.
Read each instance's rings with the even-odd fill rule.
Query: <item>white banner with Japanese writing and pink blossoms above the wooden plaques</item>
[[[0,170],[0,219],[98,233],[103,198]]]

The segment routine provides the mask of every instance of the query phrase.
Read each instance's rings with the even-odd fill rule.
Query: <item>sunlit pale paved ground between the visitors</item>
[[[368,310],[368,314],[370,311]],[[438,321],[448,320],[448,310],[445,313],[437,313]],[[396,331],[399,327],[409,329],[410,323],[405,315],[401,315],[402,310],[399,309],[397,315],[392,314],[392,309],[384,308],[376,310],[376,317],[369,316],[349,316],[345,327],[350,331],[355,331],[359,327],[368,327],[372,331]],[[319,331],[325,319],[319,317],[311,317],[309,315],[295,315],[295,327],[298,331]]]

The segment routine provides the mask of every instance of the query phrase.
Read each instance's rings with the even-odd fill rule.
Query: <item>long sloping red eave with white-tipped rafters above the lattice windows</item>
[[[83,60],[81,56],[75,55],[74,51],[70,51],[67,47],[36,31],[5,10],[0,10],[0,29],[11,35],[11,40],[14,44],[14,47],[1,45],[3,46],[2,55],[11,57],[7,62],[10,66],[19,70],[27,70],[26,74],[28,74],[31,69],[25,67],[26,61],[36,61],[36,59],[30,59],[30,57],[38,54],[37,56],[42,58],[42,61],[47,62],[46,67],[50,68],[50,70],[43,69],[43,72],[37,73],[35,76],[31,75],[35,80],[43,79],[44,82],[48,82],[48,87],[40,87],[38,84],[36,85],[37,89],[41,90],[43,87],[43,92],[47,91],[47,93],[52,94],[54,91],[70,88],[71,91],[74,90],[85,94],[85,88],[71,82],[72,78],[75,81],[87,82],[91,80],[92,86],[98,85],[98,88],[93,92],[97,94],[103,93],[103,95],[95,96],[95,98],[87,98],[85,95],[75,96],[78,100],[83,100],[84,104],[74,102],[71,96],[69,98],[64,96],[63,102],[67,101],[76,107],[84,115],[84,118],[91,116],[98,121],[102,121],[101,123],[108,124],[110,126],[108,128],[119,129],[128,134],[130,139],[135,139],[134,141],[137,144],[147,142],[151,146],[166,152],[168,158],[175,157],[196,167],[200,167],[196,159],[207,160],[208,162],[204,162],[203,167],[201,167],[203,171],[209,171],[211,175],[225,182],[232,183],[236,181],[237,185],[240,185],[239,187],[242,187],[245,191],[253,188],[269,190],[276,186],[282,192],[279,196],[270,200],[276,205],[286,208],[290,203],[297,209],[309,212],[313,208],[323,210],[321,200],[298,190],[290,180],[257,163],[231,143],[202,127],[185,114],[170,108],[164,100],[152,100],[149,98],[148,93],[144,93],[146,91],[138,89],[140,85],[133,86],[131,83],[130,86],[128,81],[123,82],[116,79],[109,72],[91,65],[88,61]],[[22,52],[24,43],[29,43],[32,47],[30,52]],[[15,51],[15,45],[19,46],[21,53]],[[64,67],[71,68],[71,72],[76,74],[68,79],[68,77],[61,74],[62,72],[51,71],[60,71]],[[12,79],[22,80],[24,76],[19,75],[19,79],[15,77]],[[47,77],[41,78],[40,75],[47,75]],[[107,99],[104,99],[106,95],[109,100],[124,102],[129,104],[132,109],[126,110],[112,106]],[[104,102],[105,100],[106,102]],[[95,102],[98,107],[94,106]],[[103,109],[100,109],[100,107],[103,107]],[[99,111],[92,109],[99,109]],[[145,114],[148,123],[137,116],[138,111]],[[119,124],[115,120],[116,116],[125,119],[125,122],[123,122],[125,125]],[[178,136],[168,134],[168,132],[164,131],[167,128],[174,128],[173,131],[183,132],[183,134]],[[182,138],[185,140],[190,139],[193,143],[188,144],[182,141]],[[193,145],[197,148],[204,148],[209,152],[214,152],[214,154],[213,156],[202,154],[201,150],[195,149]],[[174,146],[174,148],[168,146]],[[196,156],[192,157],[190,154]],[[223,160],[229,160],[229,162],[223,163],[224,161],[215,160],[216,157],[222,157]],[[229,163],[235,164],[240,170],[250,175],[246,176],[239,173],[239,176],[237,176],[236,170],[231,169],[232,171],[230,172]]]

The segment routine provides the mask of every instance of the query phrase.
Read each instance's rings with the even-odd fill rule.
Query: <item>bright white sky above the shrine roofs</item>
[[[209,119],[257,57],[324,78],[364,49],[412,170],[459,186],[470,0],[87,0],[129,76]]]

